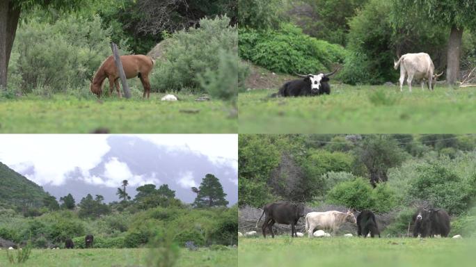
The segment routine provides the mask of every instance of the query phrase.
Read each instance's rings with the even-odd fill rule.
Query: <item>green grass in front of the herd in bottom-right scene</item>
[[[240,238],[238,266],[475,266],[475,240],[452,238]]]

